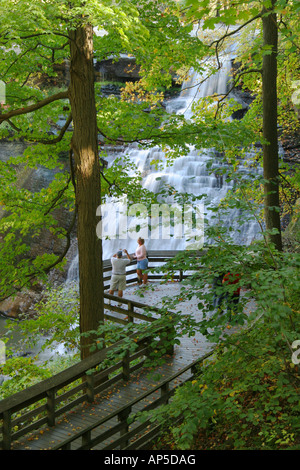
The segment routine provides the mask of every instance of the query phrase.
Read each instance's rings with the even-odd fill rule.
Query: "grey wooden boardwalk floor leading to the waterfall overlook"
[[[175,291],[177,287],[176,285],[171,287],[166,286],[169,294],[170,288]],[[157,297],[156,300],[164,295],[163,288],[158,288],[158,290],[159,292],[152,290],[151,295],[149,293],[149,297],[152,297],[153,301],[155,300],[155,295]],[[135,287],[132,287],[126,291],[126,297],[135,298],[135,293]],[[145,296],[146,295],[145,293]],[[194,310],[193,306],[190,305],[189,307]],[[192,310],[190,312],[191,314]],[[111,435],[111,430],[113,428],[118,429],[117,426],[122,410],[131,404],[131,414],[134,415],[138,411],[151,407],[151,404],[161,396],[162,389],[159,387],[160,384],[180,371],[183,371],[199,357],[211,351],[212,348],[213,345],[208,343],[200,335],[198,337],[182,338],[181,344],[175,346],[174,353],[166,356],[165,363],[155,369],[155,371],[150,371],[146,368],[139,369],[131,374],[129,381],[119,381],[109,389],[97,395],[93,403],[84,402],[62,415],[57,419],[55,426],[49,427],[45,425],[22,439],[14,441],[12,443],[12,450],[57,449],[70,438],[73,439],[72,436],[78,435],[78,438],[70,445],[71,450],[76,450],[82,448],[81,446],[84,442],[84,440],[82,440],[82,434],[84,434],[87,429],[90,429],[89,439],[96,439],[100,434],[104,437],[106,436],[100,444],[93,446],[93,449],[119,449],[120,432],[122,434],[122,432],[124,433],[125,431],[122,431],[120,428],[119,432]],[[188,369],[182,375],[171,380],[168,387],[170,389],[177,387],[190,377],[191,370]],[[109,421],[101,423],[101,420],[106,419],[108,415],[111,415]],[[98,425],[95,427],[97,423]],[[130,428],[126,429],[126,432],[130,432],[135,427],[138,429],[139,425],[139,421],[134,422]],[[148,431],[149,435],[151,435],[150,427]],[[131,444],[131,446],[133,447],[125,448],[138,448],[135,447],[134,444]],[[143,446],[140,448],[143,448]]]

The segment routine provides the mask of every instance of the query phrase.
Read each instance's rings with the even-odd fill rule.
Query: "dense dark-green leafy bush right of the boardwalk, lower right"
[[[237,254],[236,247],[220,244],[208,248],[201,259],[194,256],[191,253],[188,263],[186,254],[174,260],[176,268],[197,269],[197,261],[199,268],[178,298],[166,299],[166,305],[199,297],[203,319],[189,326],[216,342],[216,348],[194,380],[180,387],[168,405],[150,413],[152,421],[169,427],[171,437],[167,439],[166,433],[162,445],[171,449],[299,446],[299,367],[292,362],[291,347],[300,333],[299,283],[294,282],[298,254],[279,256],[261,244],[251,251],[241,248]],[[210,288],[214,276],[229,266],[242,272],[244,287],[240,309],[231,321],[228,313],[220,315],[213,309]],[[148,415],[142,413],[141,419]],[[180,424],[175,425],[178,418]]]

